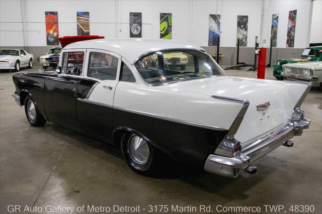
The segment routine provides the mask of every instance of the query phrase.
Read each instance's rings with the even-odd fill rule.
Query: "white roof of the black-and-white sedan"
[[[165,50],[165,49],[199,49],[203,50],[197,45],[176,40],[164,39],[94,39],[81,42],[74,42],[66,47],[66,49],[102,49],[112,51],[133,63],[138,57],[151,51]]]

